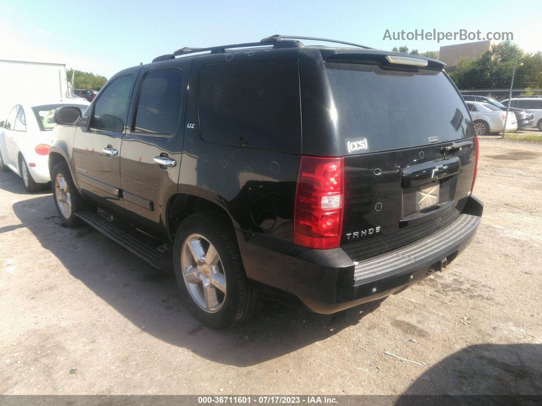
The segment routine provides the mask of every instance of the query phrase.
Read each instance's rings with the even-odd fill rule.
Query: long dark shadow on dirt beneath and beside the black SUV
[[[17,202],[13,210],[70,274],[135,326],[218,363],[250,366],[280,357],[360,323],[382,302],[334,315],[266,302],[250,323],[216,331],[199,324],[186,310],[172,274],[154,270],[88,226],[64,227],[50,196]]]

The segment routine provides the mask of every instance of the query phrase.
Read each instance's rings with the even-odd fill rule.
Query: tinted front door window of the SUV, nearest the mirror
[[[94,106],[91,128],[112,132],[124,130],[132,81],[132,75],[121,76],[107,86]]]

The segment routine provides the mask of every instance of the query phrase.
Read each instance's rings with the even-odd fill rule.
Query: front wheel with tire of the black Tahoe
[[[56,211],[62,223],[68,227],[76,228],[85,224],[75,214],[89,208],[89,204],[83,199],[75,188],[72,174],[66,162],[59,162],[51,171],[51,189]]]

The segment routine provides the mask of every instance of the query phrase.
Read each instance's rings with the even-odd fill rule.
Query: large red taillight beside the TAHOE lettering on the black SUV
[[[337,248],[343,228],[344,158],[301,157],[295,191],[294,242]]]

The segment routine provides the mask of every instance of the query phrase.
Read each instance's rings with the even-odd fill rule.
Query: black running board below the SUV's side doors
[[[92,225],[96,230],[104,233],[113,241],[119,243],[122,247],[139,256],[142,260],[149,262],[154,268],[160,270],[169,270],[172,268],[171,249],[165,250],[164,244],[158,243],[158,240],[151,239],[135,229],[132,232],[128,232],[131,228],[130,226],[118,227],[118,225],[100,217],[92,211],[81,211],[75,213],[75,215],[89,225]],[[156,247],[153,247],[153,244],[150,243],[151,241],[157,242],[154,244]]]

